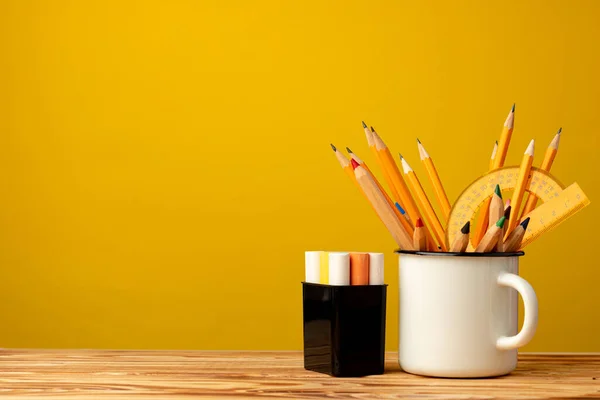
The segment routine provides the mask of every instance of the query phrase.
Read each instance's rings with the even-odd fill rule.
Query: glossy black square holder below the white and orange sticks
[[[383,374],[387,285],[302,282],[304,368],[336,377]]]

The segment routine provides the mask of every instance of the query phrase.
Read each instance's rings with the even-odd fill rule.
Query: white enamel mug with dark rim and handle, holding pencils
[[[538,320],[535,292],[518,275],[524,253],[399,253],[402,369],[448,378],[513,371]]]

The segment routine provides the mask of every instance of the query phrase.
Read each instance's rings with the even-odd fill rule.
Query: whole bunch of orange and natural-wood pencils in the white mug
[[[494,171],[504,166],[514,128],[515,106],[513,105],[504,122],[500,139],[496,141],[488,169]],[[371,169],[356,153],[346,147],[350,159],[332,144],[331,147],[346,174],[352,180],[367,202],[371,205],[396,244],[403,250],[415,251],[469,251],[469,243],[475,252],[514,252],[521,249],[521,242],[530,218],[527,215],[536,208],[537,197],[530,193],[525,201],[530,184],[534,141],[531,140],[519,166],[519,174],[512,197],[502,200],[502,188],[496,185],[493,195],[483,202],[476,224],[471,221],[460,229],[453,243],[446,242],[446,224],[450,218],[452,204],[442,184],[442,179],[432,157],[417,139],[417,149],[427,179],[433,187],[436,212],[429,196],[423,189],[415,171],[408,161],[399,155],[396,163],[392,152],[381,135],[363,121],[367,144],[381,170],[386,191]],[[540,170],[548,172],[558,150],[561,130],[550,143]],[[473,225],[473,226],[472,226]]]

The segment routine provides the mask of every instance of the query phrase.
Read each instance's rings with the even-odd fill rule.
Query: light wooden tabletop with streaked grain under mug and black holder
[[[520,356],[495,379],[432,379],[400,371],[331,378],[300,352],[0,350],[0,398],[21,399],[600,399],[600,354]]]

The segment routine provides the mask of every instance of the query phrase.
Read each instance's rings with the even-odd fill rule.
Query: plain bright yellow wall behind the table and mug
[[[299,349],[305,250],[395,245],[329,143],[453,200],[556,130],[600,199],[597,1],[0,2],[0,346]],[[530,351],[600,351],[600,208],[527,248]]]

